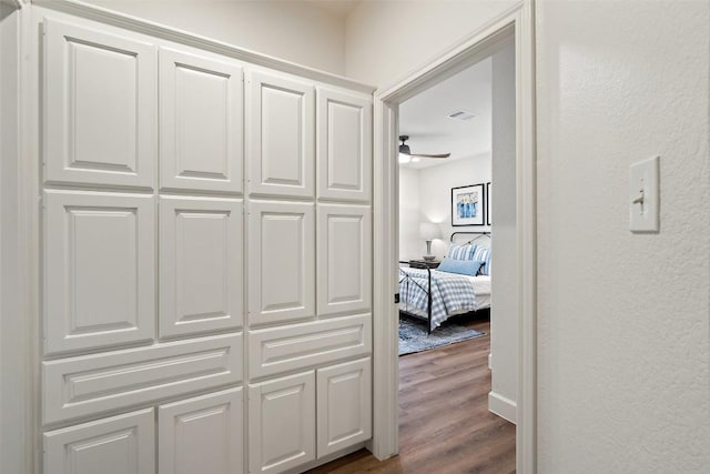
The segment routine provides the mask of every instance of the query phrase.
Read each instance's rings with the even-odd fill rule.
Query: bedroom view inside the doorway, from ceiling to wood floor
[[[515,67],[509,38],[399,104],[403,467],[452,463],[440,443],[462,472],[516,467]]]

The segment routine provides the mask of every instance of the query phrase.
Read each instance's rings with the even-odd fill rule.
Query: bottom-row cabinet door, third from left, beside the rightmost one
[[[250,472],[280,473],[315,460],[315,373],[250,385]]]

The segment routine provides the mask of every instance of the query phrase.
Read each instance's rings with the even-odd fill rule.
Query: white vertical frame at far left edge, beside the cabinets
[[[27,113],[24,81],[26,0],[0,0],[0,472],[36,470],[34,339],[28,281],[31,236],[28,212],[37,201],[26,194]]]

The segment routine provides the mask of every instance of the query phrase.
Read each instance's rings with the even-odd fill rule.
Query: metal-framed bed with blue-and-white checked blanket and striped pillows
[[[455,239],[462,236],[467,239],[460,244],[456,243]],[[484,260],[474,275],[399,268],[399,312],[426,320],[429,333],[452,316],[490,307],[490,234],[455,232],[450,241],[447,259],[458,261],[454,263],[480,263],[480,260]],[[444,263],[452,263],[446,262],[447,259],[440,269],[444,268]],[[450,266],[446,265],[446,269],[450,270]]]

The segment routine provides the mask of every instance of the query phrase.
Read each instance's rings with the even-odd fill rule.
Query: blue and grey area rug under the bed
[[[403,315],[399,317],[399,355],[428,351],[485,334],[449,321],[444,322],[432,334],[427,334],[426,321]]]

